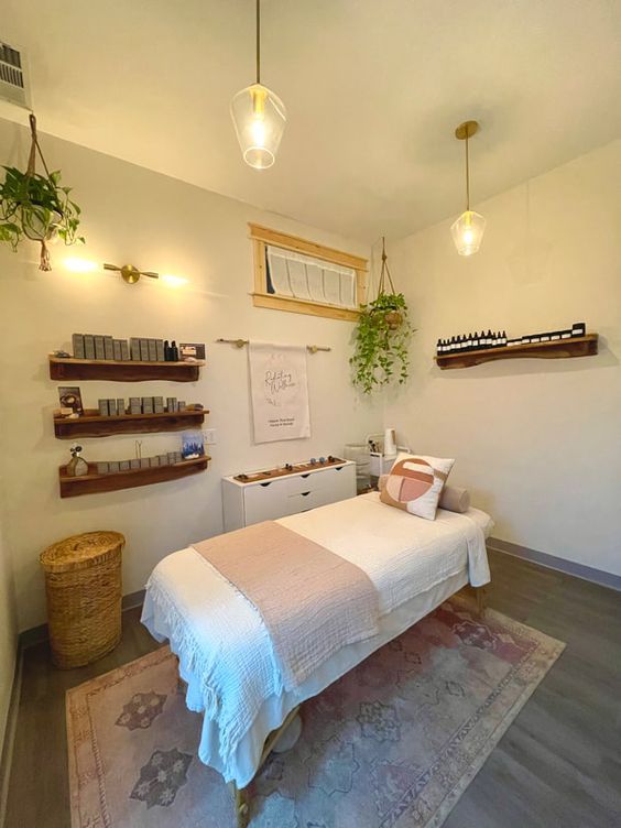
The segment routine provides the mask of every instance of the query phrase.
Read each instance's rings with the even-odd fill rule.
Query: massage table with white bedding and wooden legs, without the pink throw
[[[199,759],[232,788],[240,828],[249,820],[246,788],[277,741],[299,724],[303,701],[464,587],[476,588],[482,610],[482,587],[490,579],[484,540],[493,522],[477,509],[464,514],[438,509],[428,521],[370,492],[276,523],[368,575],[379,597],[378,634],[342,647],[303,684],[284,689],[261,614],[194,547],[156,565],[142,612],[151,634],[168,641],[177,656],[186,705],[203,713]],[[240,540],[247,531],[238,531]],[[258,675],[261,687],[254,686]]]

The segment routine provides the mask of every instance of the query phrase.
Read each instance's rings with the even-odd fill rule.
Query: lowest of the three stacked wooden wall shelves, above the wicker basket
[[[99,492],[117,491],[119,489],[134,489],[139,486],[163,483],[166,480],[178,480],[188,475],[205,471],[211,458],[205,455],[195,460],[183,460],[173,466],[151,466],[146,469],[130,469],[129,471],[112,471],[98,475],[97,465],[88,464],[88,475],[67,477],[67,467],[58,469],[58,481],[62,498],[76,498],[79,494],[97,494]]]

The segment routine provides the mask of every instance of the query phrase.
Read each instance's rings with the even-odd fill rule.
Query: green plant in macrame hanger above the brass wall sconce
[[[52,270],[46,242],[58,237],[65,244],[84,242],[77,236],[80,208],[69,198],[70,187],[61,186],[61,173],[51,173],[36,135],[36,118],[30,116],[31,148],[25,173],[4,166],[0,184],[0,241],[17,251],[23,237],[41,244],[40,270]],[[36,172],[36,154],[45,174]]]

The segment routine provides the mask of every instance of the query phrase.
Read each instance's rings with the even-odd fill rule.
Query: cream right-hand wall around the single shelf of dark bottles
[[[493,515],[497,537],[620,575],[621,141],[475,208],[488,222],[477,255],[457,255],[450,221],[389,250],[418,333],[385,424],[457,458],[451,481]],[[578,320],[599,331],[599,356],[433,362],[438,337]]]

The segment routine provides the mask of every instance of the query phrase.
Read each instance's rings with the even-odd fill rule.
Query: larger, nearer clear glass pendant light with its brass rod
[[[246,163],[255,170],[272,166],[283,137],[286,109],[279,96],[261,84],[261,0],[257,0],[257,83],[233,97],[231,117]]]

